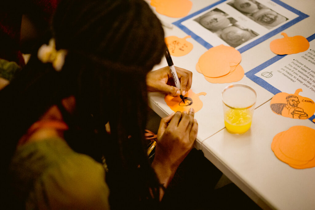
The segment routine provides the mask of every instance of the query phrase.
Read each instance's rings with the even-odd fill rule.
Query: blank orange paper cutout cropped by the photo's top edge
[[[192,9],[189,0],[151,0],[150,4],[158,13],[172,18],[185,17]]]

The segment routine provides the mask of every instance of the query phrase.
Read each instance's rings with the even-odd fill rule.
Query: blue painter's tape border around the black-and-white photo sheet
[[[188,16],[180,19],[180,20],[175,21],[173,24],[175,26],[177,26],[178,28],[180,28],[182,31],[184,31],[187,35],[190,35],[193,39],[195,39],[198,43],[203,45],[205,48],[210,49],[210,48],[213,47],[210,43],[206,42],[203,38],[199,37],[197,34],[192,32],[191,30],[189,30],[186,26],[182,25],[181,23],[183,21],[188,20],[188,19],[190,19],[190,18],[192,18],[192,17],[194,17],[194,16],[196,16],[196,15],[198,15],[198,14],[200,14],[200,13],[202,13],[202,12],[204,12],[204,11],[206,11],[206,10],[208,10],[208,9],[218,5],[218,4],[220,4],[220,3],[223,3],[225,1],[227,1],[227,0],[221,0],[221,1],[218,1],[216,3],[213,3],[213,4],[207,6],[207,7],[203,8],[203,9],[198,10],[197,12],[194,12],[194,13],[192,13],[192,14],[190,14],[190,15],[188,15]],[[291,21],[289,21],[289,22],[287,22],[286,24],[276,28],[273,31],[270,31],[269,33],[265,34],[264,36],[262,36],[262,37],[260,37],[260,38],[258,38],[256,40],[254,40],[253,42],[248,43],[247,45],[243,46],[242,48],[239,48],[238,51],[240,53],[245,52],[246,50],[254,47],[255,45],[257,45],[257,44],[259,44],[259,43],[261,43],[263,41],[265,41],[266,39],[274,36],[275,34],[283,31],[284,29],[289,28],[290,26],[294,25],[295,23],[297,23],[297,22],[299,22],[299,21],[309,17],[309,15],[304,14],[304,13],[302,13],[301,11],[299,11],[297,9],[294,9],[293,7],[291,7],[291,6],[281,2],[280,0],[271,0],[271,1],[273,1],[274,3],[279,4],[280,6],[284,7],[285,9],[288,9],[291,12],[297,14],[298,17],[293,19],[293,20],[291,20]]]

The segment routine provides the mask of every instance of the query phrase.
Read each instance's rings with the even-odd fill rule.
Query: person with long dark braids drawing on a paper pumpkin
[[[198,130],[193,110],[162,118],[150,165],[147,91],[180,94],[168,67],[151,71],[165,47],[143,0],[62,0],[38,51],[0,91],[1,205],[158,208]],[[188,91],[191,72],[176,70]]]

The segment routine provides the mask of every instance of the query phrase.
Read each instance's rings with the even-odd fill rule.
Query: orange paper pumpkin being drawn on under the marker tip
[[[180,99],[179,96],[173,97],[170,95],[166,95],[164,97],[164,100],[165,100],[166,104],[169,106],[169,108],[171,108],[171,110],[173,110],[173,111],[181,111],[181,112],[187,111],[188,112],[190,108],[193,108],[195,110],[195,112],[197,112],[203,106],[202,101],[199,99],[200,95],[206,95],[206,93],[201,92],[201,93],[195,94],[190,89],[184,95],[185,103]]]

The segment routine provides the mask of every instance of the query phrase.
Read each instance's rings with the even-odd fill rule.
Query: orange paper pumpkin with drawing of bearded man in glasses
[[[302,89],[294,94],[278,93],[270,101],[271,110],[284,117],[294,119],[308,119],[315,112],[315,103],[312,99],[300,96]]]

